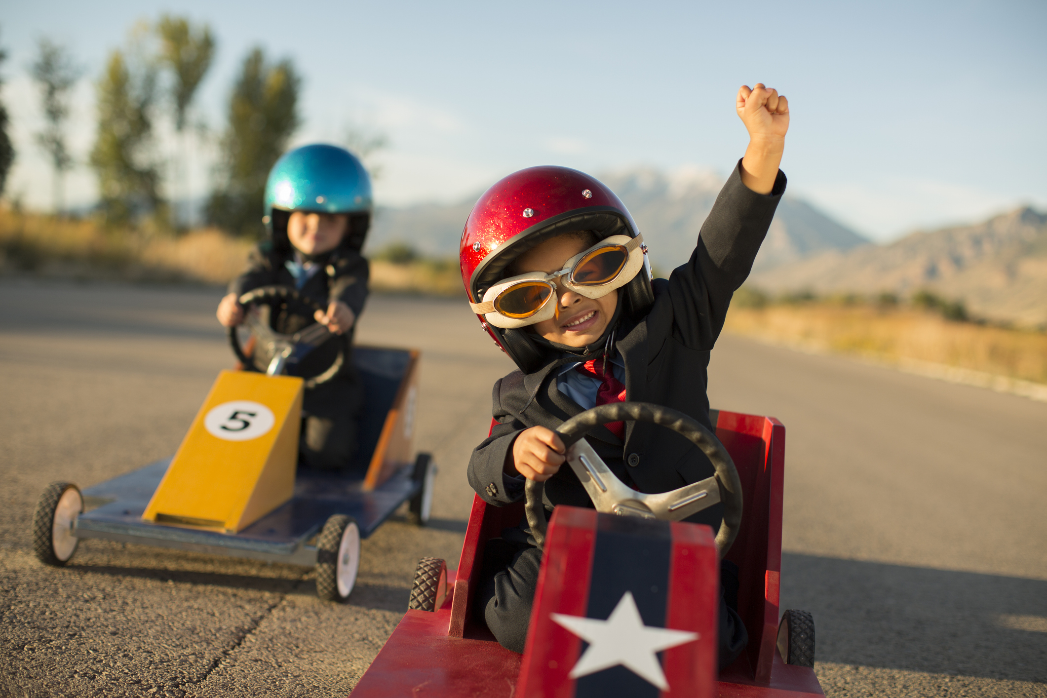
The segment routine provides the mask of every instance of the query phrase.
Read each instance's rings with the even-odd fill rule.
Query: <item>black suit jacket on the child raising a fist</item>
[[[709,353],[723,328],[731,296],[749,276],[786,183],[779,172],[770,195],[756,194],[741,183],[740,167],[739,162],[716,198],[691,258],[668,280],[655,279],[654,305],[639,321],[623,320],[615,341],[625,362],[629,401],[672,407],[706,427],[711,427]],[[583,411],[557,389],[558,365],[551,362],[528,375],[516,370],[494,384],[492,413],[497,424],[469,460],[469,483],[488,503],[507,504],[520,496],[506,492],[503,481],[503,466],[520,431],[538,425],[555,429]],[[602,426],[586,438],[619,478],[641,492],[667,492],[714,473],[696,446],[653,424],[626,422],[624,442]],[[545,482],[545,505],[556,504],[593,506],[570,467]],[[721,517],[716,504],[688,520],[715,528]]]

